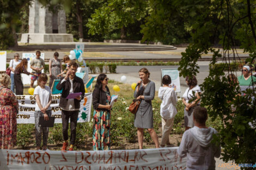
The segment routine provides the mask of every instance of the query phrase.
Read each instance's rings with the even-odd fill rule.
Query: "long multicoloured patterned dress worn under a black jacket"
[[[107,101],[111,102],[111,97],[106,92]],[[110,149],[110,117],[111,111],[94,110],[93,112],[93,150]]]

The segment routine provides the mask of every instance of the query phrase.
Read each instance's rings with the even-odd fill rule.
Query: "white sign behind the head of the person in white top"
[[[164,75],[169,75],[170,79],[172,79],[172,83],[170,86],[172,86],[175,90],[175,92],[180,92],[180,76],[179,71],[177,68],[163,68],[162,69],[162,78]],[[162,82],[162,80],[161,80]]]

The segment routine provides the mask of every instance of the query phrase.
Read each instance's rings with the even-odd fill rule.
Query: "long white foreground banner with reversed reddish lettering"
[[[173,148],[101,150],[101,151],[36,151],[0,150],[1,170],[184,170]]]

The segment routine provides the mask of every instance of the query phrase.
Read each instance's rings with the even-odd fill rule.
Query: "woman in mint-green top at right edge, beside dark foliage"
[[[253,75],[250,74],[250,67],[249,66],[243,66],[242,69],[242,75],[240,75],[237,79],[239,81],[239,86],[240,89],[242,91],[242,95],[245,95],[245,93],[243,93],[243,91],[245,91],[246,89],[250,88],[252,89],[253,86],[252,84],[256,85],[256,77],[254,77]]]

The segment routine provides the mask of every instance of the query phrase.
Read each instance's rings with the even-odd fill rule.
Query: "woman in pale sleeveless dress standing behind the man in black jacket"
[[[57,75],[62,73],[62,61],[58,59],[59,53],[55,52],[53,56],[54,58],[50,59],[49,61],[49,73],[50,73],[49,86],[51,89],[52,89],[53,80],[60,79],[60,77],[58,78]]]

